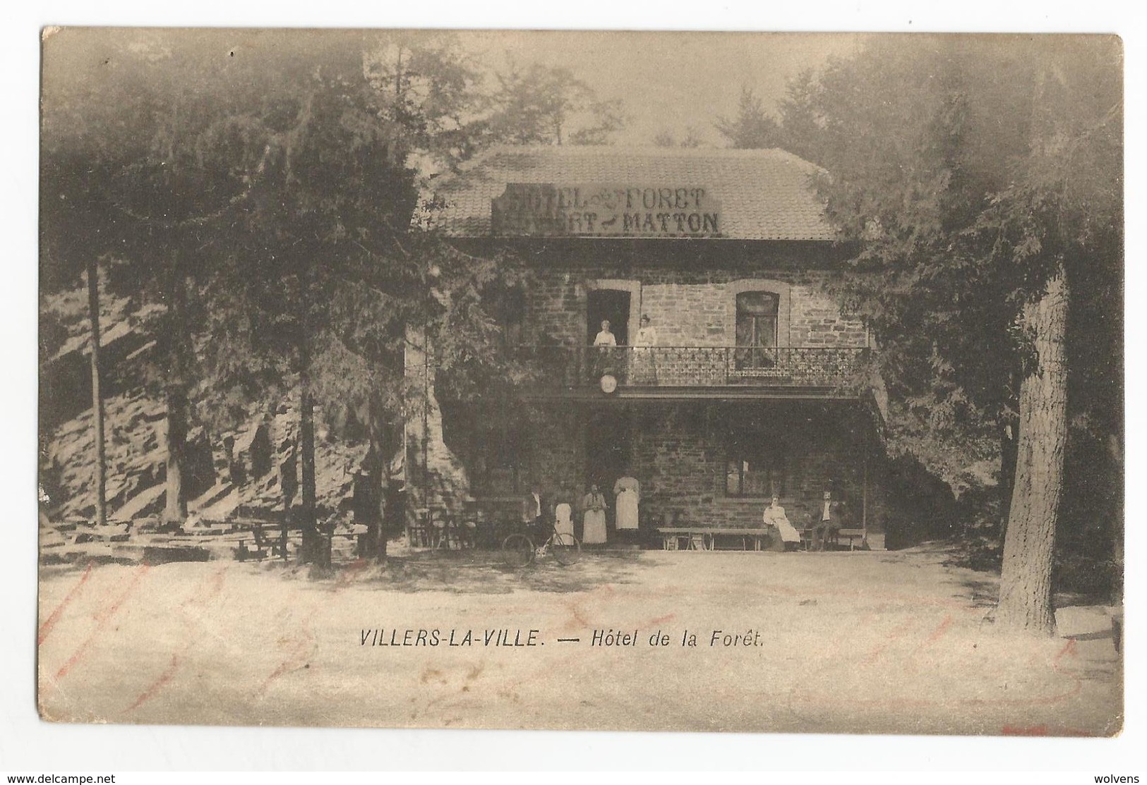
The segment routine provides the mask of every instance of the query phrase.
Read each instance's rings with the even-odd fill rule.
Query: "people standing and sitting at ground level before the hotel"
[[[635,541],[638,533],[638,507],[641,502],[641,484],[632,477],[621,477],[614,482],[615,529],[619,539]],[[606,533],[606,495],[596,484],[590,486],[588,493],[582,497],[582,543],[586,545],[604,544]],[[541,494],[541,487],[535,485],[522,500],[522,523],[533,529],[539,541],[549,536],[551,527],[557,533],[574,534],[574,507],[564,496],[549,502]],[[781,542],[788,545],[801,545],[801,532],[788,519],[780,497],[773,495],[765,508],[762,523],[774,527]],[[552,526],[551,526],[552,525]],[[835,539],[844,526],[843,502],[834,501],[833,493],[826,490],[821,504],[812,511],[806,532],[809,544],[816,550],[824,550]]]

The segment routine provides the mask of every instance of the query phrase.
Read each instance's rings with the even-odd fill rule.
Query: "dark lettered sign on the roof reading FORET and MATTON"
[[[720,237],[720,204],[697,183],[507,183],[490,201],[494,235]]]

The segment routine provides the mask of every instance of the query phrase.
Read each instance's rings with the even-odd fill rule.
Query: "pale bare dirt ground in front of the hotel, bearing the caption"
[[[1068,598],[1059,637],[1001,636],[994,579],[950,556],[629,551],[515,571],[437,552],[326,580],[45,566],[39,702],[111,723],[1117,732],[1108,610]]]

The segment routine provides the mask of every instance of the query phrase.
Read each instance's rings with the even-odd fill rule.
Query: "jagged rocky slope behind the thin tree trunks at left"
[[[101,290],[108,512],[112,520],[148,518],[164,508],[167,423],[163,401],[143,392],[139,368],[155,345],[149,324],[164,309],[138,307],[103,284]],[[92,518],[95,449],[85,289],[45,297],[40,316],[41,511],[54,521]],[[325,517],[350,509],[367,446],[328,438],[321,423],[317,410],[315,501]],[[298,504],[298,410],[291,400],[234,433],[192,425],[184,466],[189,517],[279,517]]]

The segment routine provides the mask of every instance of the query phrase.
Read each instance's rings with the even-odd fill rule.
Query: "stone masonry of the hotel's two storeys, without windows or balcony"
[[[778,295],[779,347],[866,347],[863,324],[842,317],[827,291],[835,274],[830,252],[824,244],[783,243],[533,248],[523,340],[584,345],[590,292],[614,289],[633,298],[630,336],[638,328],[637,315],[643,313],[653,320],[661,347],[735,346],[736,296],[763,290]],[[704,364],[705,359],[696,362]],[[665,374],[670,367],[658,370]],[[695,382],[690,377],[681,384]],[[547,497],[577,503],[590,481],[592,453],[599,449],[588,437],[595,405],[545,406],[549,414],[528,429],[522,445],[517,492],[537,482]],[[729,434],[749,421],[762,433],[786,437],[783,503],[794,516],[807,515],[832,485],[859,517],[864,461],[856,401],[614,401],[609,406],[625,414],[617,438],[625,438],[623,430],[629,434],[630,468],[642,484],[643,524],[759,524],[767,501],[726,490]],[[469,439],[463,452],[479,449],[470,442],[475,440]],[[612,480],[606,485],[608,492]],[[473,492],[487,495],[481,487]]]

